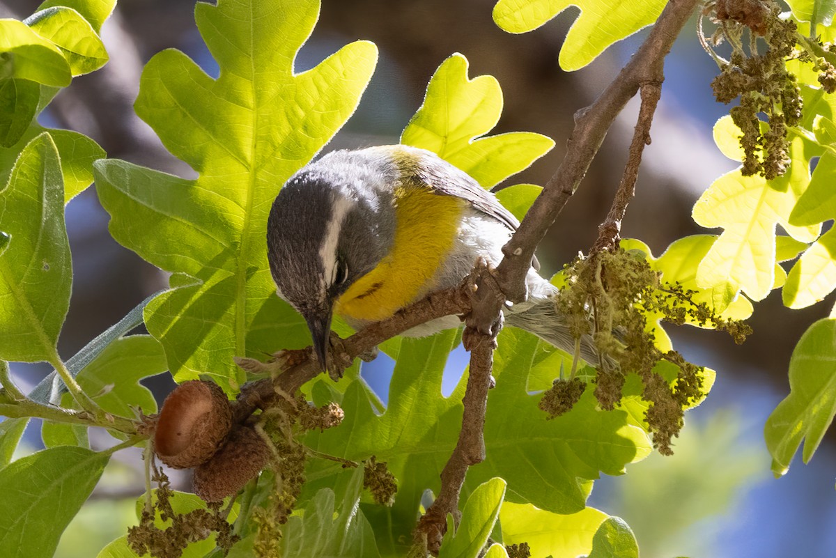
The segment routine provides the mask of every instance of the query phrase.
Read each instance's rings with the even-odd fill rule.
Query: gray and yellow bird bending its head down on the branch
[[[340,150],[293,175],[267,226],[278,295],[308,323],[325,368],[331,318],[360,328],[433,291],[456,287],[479,258],[496,266],[519,221],[496,196],[431,151],[405,145]],[[558,289],[532,262],[528,301],[506,323],[575,353],[553,297]],[[455,316],[415,327],[424,336],[458,327]],[[588,336],[580,357],[597,363]]]

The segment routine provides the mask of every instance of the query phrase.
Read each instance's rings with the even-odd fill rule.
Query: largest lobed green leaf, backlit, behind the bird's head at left
[[[145,307],[145,324],[177,381],[207,374],[234,391],[244,375],[233,357],[309,343],[301,318],[275,296],[265,223],[285,180],[354,112],[377,58],[374,44],[358,41],[294,73],[318,12],[318,0],[198,3],[220,77],[163,51],[145,66],[135,109],[199,177],[94,165],[111,234],[173,274],[171,290]]]

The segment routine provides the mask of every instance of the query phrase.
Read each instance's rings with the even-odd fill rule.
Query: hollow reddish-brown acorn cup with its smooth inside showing
[[[196,467],[217,452],[231,427],[229,400],[217,383],[181,383],[162,404],[154,450],[169,467]]]

